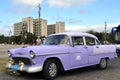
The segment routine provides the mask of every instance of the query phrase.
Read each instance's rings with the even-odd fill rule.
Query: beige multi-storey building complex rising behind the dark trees
[[[56,22],[56,24],[47,25],[47,20],[27,17],[23,18],[22,22],[14,24],[14,35],[21,35],[22,32],[30,32],[37,37],[46,37],[50,34],[65,32],[65,23]]]

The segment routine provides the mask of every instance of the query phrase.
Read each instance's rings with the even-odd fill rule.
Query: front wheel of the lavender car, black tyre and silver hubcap
[[[55,60],[48,60],[43,68],[43,75],[47,80],[53,80],[58,74],[58,67]]]

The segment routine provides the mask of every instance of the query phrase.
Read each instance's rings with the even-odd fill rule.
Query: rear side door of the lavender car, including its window
[[[88,49],[89,64],[94,65],[99,62],[99,53],[101,52],[100,42],[92,37],[85,37],[86,46]]]

